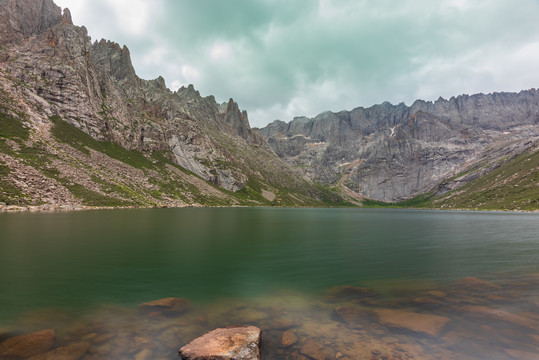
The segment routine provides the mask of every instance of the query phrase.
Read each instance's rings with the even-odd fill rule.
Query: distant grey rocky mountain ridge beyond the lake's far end
[[[538,148],[539,91],[417,100],[412,106],[386,102],[277,120],[260,134],[307,177],[357,199],[442,196]],[[459,176],[469,169],[474,177]]]

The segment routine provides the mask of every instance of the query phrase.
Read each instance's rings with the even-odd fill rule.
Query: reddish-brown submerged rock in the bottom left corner
[[[15,336],[0,343],[0,358],[29,359],[49,351],[55,340],[53,329]]]

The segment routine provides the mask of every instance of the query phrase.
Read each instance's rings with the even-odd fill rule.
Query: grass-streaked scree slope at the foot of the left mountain
[[[5,159],[0,156],[0,203],[7,205],[46,204],[42,200],[46,190],[35,187],[47,181],[67,189],[75,201],[86,206],[349,205],[314,184],[290,188],[286,179],[280,186],[254,175],[244,189],[234,193],[174,164],[170,154],[143,154],[98,141],[58,116],[50,118],[50,136],[37,135],[25,125],[25,114],[9,108],[0,106],[0,155]],[[28,176],[29,170],[34,175]],[[33,183],[25,183],[28,179]]]

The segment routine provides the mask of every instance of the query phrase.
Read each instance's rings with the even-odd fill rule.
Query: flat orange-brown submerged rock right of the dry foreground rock
[[[450,321],[438,315],[420,314],[412,311],[378,309],[373,310],[378,322],[387,327],[407,329],[432,336],[438,335]]]

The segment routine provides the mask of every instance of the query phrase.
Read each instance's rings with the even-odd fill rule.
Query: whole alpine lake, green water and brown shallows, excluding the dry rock
[[[264,360],[539,359],[539,214],[0,214],[0,359],[178,359],[229,325]]]

